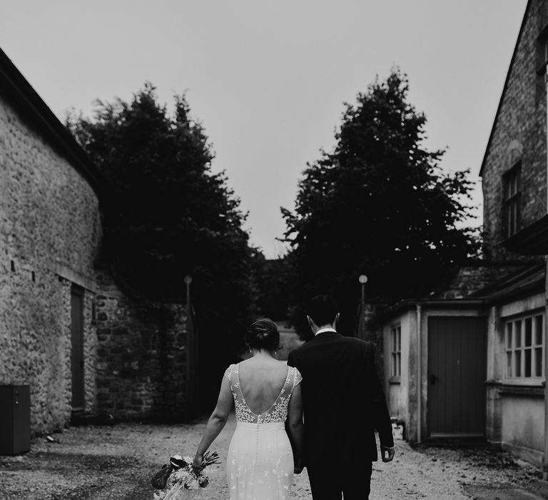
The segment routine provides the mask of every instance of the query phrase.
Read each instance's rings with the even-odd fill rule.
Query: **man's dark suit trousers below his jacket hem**
[[[349,464],[335,470],[340,464],[325,467],[307,467],[313,500],[365,500],[371,490],[372,462]]]

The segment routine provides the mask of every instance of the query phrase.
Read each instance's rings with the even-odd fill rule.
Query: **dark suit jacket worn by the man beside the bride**
[[[288,365],[303,376],[306,466],[376,461],[375,430],[394,446],[372,344],[325,331],[291,351]]]

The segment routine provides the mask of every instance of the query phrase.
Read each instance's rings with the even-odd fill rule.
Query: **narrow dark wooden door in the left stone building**
[[[83,289],[71,289],[71,369],[72,369],[72,409],[83,410]]]

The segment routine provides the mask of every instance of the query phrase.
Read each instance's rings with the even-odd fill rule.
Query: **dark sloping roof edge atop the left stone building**
[[[1,49],[0,94],[88,181],[99,202],[105,201],[108,186],[96,165]]]

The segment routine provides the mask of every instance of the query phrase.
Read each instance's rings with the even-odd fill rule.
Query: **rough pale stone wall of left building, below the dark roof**
[[[29,384],[34,434],[62,428],[71,416],[72,283],[86,289],[86,405],[93,407],[89,290],[100,238],[96,193],[0,95],[0,384]]]

